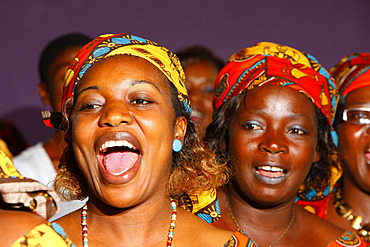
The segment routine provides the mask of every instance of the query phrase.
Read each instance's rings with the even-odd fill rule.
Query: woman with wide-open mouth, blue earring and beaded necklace
[[[246,245],[177,208],[180,194],[228,179],[197,138],[184,79],[173,53],[123,33],[94,39],[71,63],[64,114],[45,121],[66,131],[56,190],[89,197],[57,220],[77,246]]]

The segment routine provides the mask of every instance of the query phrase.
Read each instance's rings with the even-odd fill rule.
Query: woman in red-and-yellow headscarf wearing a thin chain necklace
[[[337,152],[337,90],[311,55],[261,42],[232,55],[216,80],[209,147],[234,176],[218,191],[213,225],[240,229],[258,246],[366,246],[356,233],[295,204],[321,197]]]

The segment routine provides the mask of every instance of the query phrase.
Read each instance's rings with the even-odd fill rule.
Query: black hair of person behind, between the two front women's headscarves
[[[176,52],[181,65],[186,68],[188,65],[206,61],[214,65],[218,71],[220,71],[224,66],[225,62],[218,57],[213,51],[203,45],[192,45],[184,47]]]

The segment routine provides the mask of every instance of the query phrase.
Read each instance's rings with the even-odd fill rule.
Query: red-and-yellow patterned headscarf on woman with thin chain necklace
[[[304,93],[332,123],[338,92],[328,71],[312,55],[270,42],[245,48],[229,58],[216,80],[215,111],[245,89],[268,84]]]

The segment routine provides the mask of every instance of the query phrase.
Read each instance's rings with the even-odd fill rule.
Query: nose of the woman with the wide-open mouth
[[[131,124],[131,112],[122,102],[105,104],[99,119],[100,126],[118,127],[120,124]]]

